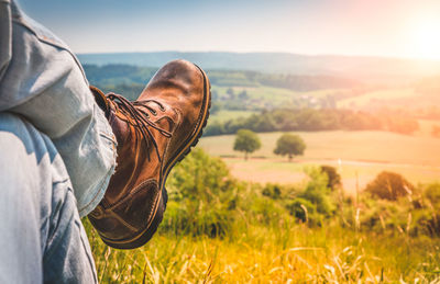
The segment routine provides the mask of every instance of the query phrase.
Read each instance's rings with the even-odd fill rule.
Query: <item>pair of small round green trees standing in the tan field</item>
[[[262,143],[256,133],[250,129],[240,129],[237,132],[233,149],[244,152],[244,159],[248,160],[250,154],[256,151]],[[275,155],[287,156],[292,161],[294,156],[302,155],[306,149],[306,143],[301,137],[294,134],[283,134],[276,141]]]

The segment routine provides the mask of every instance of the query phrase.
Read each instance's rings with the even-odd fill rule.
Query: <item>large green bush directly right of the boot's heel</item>
[[[162,230],[194,236],[226,236],[233,224],[240,184],[218,158],[194,149],[173,170]]]

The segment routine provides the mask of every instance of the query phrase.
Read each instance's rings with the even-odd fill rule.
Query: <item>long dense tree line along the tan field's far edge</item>
[[[365,113],[350,110],[278,109],[263,111],[246,118],[213,122],[205,135],[235,134],[239,129],[264,132],[389,130],[410,134],[419,128],[415,118],[394,113]]]

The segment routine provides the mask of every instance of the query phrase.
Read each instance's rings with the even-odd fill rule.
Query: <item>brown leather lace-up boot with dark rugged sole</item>
[[[175,60],[157,71],[135,102],[90,89],[117,137],[118,166],[88,217],[110,247],[138,248],[162,221],[170,169],[201,136],[209,115],[209,80],[199,67]]]

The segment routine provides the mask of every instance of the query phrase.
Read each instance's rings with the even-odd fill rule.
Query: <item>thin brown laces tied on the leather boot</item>
[[[172,134],[163,128],[161,128],[158,125],[156,125],[155,123],[153,123],[152,121],[150,121],[150,114],[147,114],[143,109],[140,107],[134,107],[134,106],[143,106],[144,109],[148,110],[153,115],[156,115],[156,110],[145,103],[147,102],[154,102],[155,104],[158,105],[158,107],[161,109],[161,111],[165,111],[165,107],[162,103],[157,102],[156,100],[143,100],[143,101],[135,101],[135,102],[130,102],[129,100],[127,100],[125,98],[123,98],[120,94],[116,94],[116,93],[109,93],[106,95],[109,100],[113,101],[114,104],[117,105],[117,107],[125,113],[129,114],[130,117],[132,117],[134,120],[134,122],[136,123],[136,125],[139,127],[135,127],[136,129],[139,128],[141,130],[141,134],[144,138],[144,141],[146,144],[146,147],[150,148],[151,143],[153,144],[157,158],[160,161],[162,161],[161,155],[158,152],[158,147],[157,147],[157,143],[156,139],[154,139],[154,136],[150,129],[150,127],[158,130],[158,133],[161,133],[163,136],[170,138]],[[150,152],[147,152],[147,158],[148,161],[151,160],[150,157]]]

